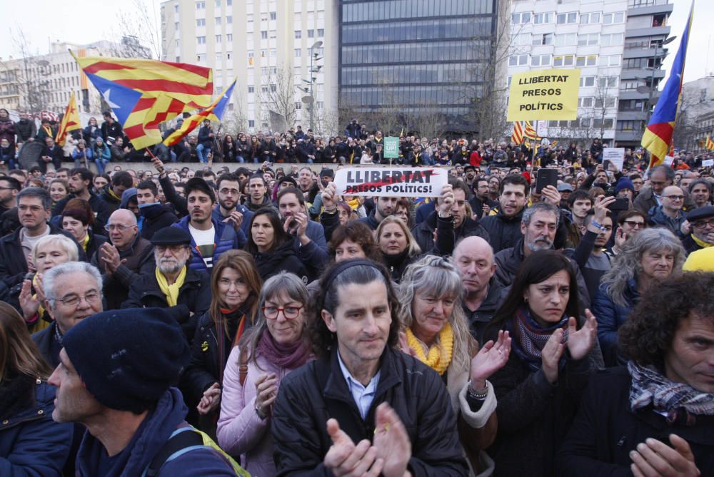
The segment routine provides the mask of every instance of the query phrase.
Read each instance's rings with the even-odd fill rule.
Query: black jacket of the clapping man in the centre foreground
[[[441,376],[421,361],[386,348],[374,400],[362,419],[331,356],[311,361],[281,381],[273,407],[272,434],[278,476],[332,476],[323,458],[332,445],[325,423],[335,418],[353,442],[372,440],[376,407],[387,402],[411,441],[408,470],[414,477],[467,476],[451,409]]]

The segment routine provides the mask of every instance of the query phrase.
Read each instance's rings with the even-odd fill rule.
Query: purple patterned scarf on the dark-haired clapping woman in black
[[[518,354],[518,357],[526,361],[526,364],[538,371],[542,361],[541,352],[555,330],[563,329],[563,343],[568,341],[568,315],[564,315],[558,323],[550,327],[543,327],[531,316],[531,310],[527,306],[518,308],[516,317],[508,324],[508,331],[511,332],[513,342],[511,347]],[[560,369],[565,366],[565,353],[559,361]]]

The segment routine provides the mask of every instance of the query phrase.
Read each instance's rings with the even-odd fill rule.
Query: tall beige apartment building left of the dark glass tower
[[[168,0],[161,37],[161,59],[213,68],[216,93],[238,79],[223,118],[228,130],[336,128],[334,1]]]

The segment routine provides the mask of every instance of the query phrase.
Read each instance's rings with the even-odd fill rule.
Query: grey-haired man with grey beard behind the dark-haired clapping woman
[[[521,240],[518,240],[514,247],[501,250],[494,257],[496,261],[495,279],[501,282],[504,287],[510,286],[526,257],[538,250],[553,249],[559,221],[560,208],[556,205],[537,202],[528,207],[523,212],[521,219],[521,234],[523,234]],[[581,309],[589,308],[588,287],[585,285],[585,280],[578,267],[575,267],[575,275],[578,280]]]

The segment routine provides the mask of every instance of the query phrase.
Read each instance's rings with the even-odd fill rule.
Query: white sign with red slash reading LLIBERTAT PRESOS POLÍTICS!
[[[343,168],[335,173],[338,195],[438,197],[448,182],[440,168]]]

